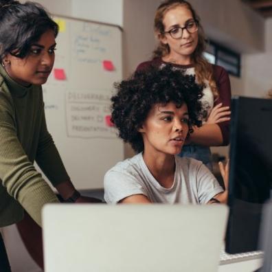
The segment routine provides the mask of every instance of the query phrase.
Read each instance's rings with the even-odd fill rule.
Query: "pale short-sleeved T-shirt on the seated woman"
[[[171,188],[162,187],[152,176],[142,153],[117,163],[104,176],[104,199],[118,203],[127,196],[144,194],[153,203],[204,204],[223,188],[207,167],[196,159],[175,156]]]

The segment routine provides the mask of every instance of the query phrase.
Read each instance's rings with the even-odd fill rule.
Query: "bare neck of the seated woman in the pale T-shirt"
[[[176,163],[174,155],[150,154],[147,150],[143,154],[144,162],[155,179],[165,188],[170,188],[174,182]]]

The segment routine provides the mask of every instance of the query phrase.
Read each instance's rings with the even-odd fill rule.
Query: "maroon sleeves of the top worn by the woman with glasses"
[[[176,65],[174,63],[166,63],[161,58],[155,58],[154,60],[149,60],[144,63],[140,63],[136,71],[147,69],[150,65],[160,66],[162,64],[171,64],[174,67],[180,69],[188,69],[194,67],[194,65]],[[231,106],[231,87],[229,82],[229,75],[227,71],[218,65],[212,65],[214,69],[214,80],[216,81],[216,86],[218,89],[219,97],[214,100],[214,106],[223,103],[223,106]],[[221,122],[217,124],[223,135],[223,146],[229,144],[229,121]]]

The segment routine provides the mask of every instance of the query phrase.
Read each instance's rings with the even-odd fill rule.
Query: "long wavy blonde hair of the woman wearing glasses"
[[[196,73],[196,82],[201,85],[205,85],[205,80],[209,82],[209,87],[212,89],[212,93],[214,95],[214,98],[218,98],[218,89],[216,87],[216,82],[214,80],[213,76],[213,69],[212,65],[207,62],[207,60],[203,57],[203,52],[206,47],[206,41],[205,41],[205,34],[203,27],[200,23],[200,18],[192,8],[192,5],[188,3],[188,1],[184,0],[166,0],[159,5],[159,8],[157,8],[156,14],[155,14],[155,20],[154,20],[154,30],[155,34],[159,40],[159,36],[163,35],[164,32],[164,25],[163,25],[163,17],[168,12],[168,10],[172,10],[173,8],[177,8],[177,6],[183,5],[190,12],[192,12],[193,19],[198,23],[199,30],[199,42],[196,46],[196,49],[194,50],[192,54],[192,64],[194,65],[195,73]],[[159,40],[159,45],[157,49],[154,50],[152,54],[152,58],[161,58],[163,56],[167,56],[170,53],[170,47],[168,44],[163,44]]]

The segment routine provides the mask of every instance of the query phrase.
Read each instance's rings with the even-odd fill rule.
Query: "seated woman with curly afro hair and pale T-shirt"
[[[137,155],[106,172],[106,202],[225,203],[227,191],[201,161],[177,156],[201,125],[203,91],[194,76],[149,67],[115,88],[112,122]],[[227,166],[220,170],[227,188]]]

